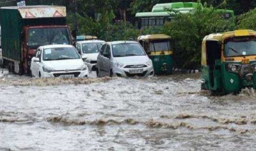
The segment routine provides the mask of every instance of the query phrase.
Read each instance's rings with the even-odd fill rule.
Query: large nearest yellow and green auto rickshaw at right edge
[[[256,89],[256,32],[236,30],[205,36],[202,42],[202,89],[238,93]]]

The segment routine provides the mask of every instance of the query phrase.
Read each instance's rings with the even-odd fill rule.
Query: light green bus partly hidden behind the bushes
[[[147,27],[163,26],[165,22],[172,21],[176,15],[175,12],[166,12],[166,9],[172,9],[179,13],[193,13],[196,7],[202,7],[200,3],[164,3],[156,4],[152,8],[152,12],[136,13],[135,17],[138,24],[138,29]],[[220,12],[224,19],[235,22],[234,11],[232,10],[216,10]]]

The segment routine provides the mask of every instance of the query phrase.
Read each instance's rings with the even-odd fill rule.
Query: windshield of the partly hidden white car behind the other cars
[[[82,50],[84,54],[99,53],[102,43],[85,43],[82,44]]]

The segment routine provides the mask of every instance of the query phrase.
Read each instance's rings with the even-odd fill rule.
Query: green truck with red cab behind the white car
[[[64,6],[0,8],[3,66],[29,74],[31,58],[41,45],[72,44]],[[61,37],[58,35],[62,35]]]

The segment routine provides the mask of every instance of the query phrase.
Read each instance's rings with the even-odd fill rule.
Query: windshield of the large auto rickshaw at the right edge
[[[256,55],[256,37],[236,37],[225,40],[225,57]]]

